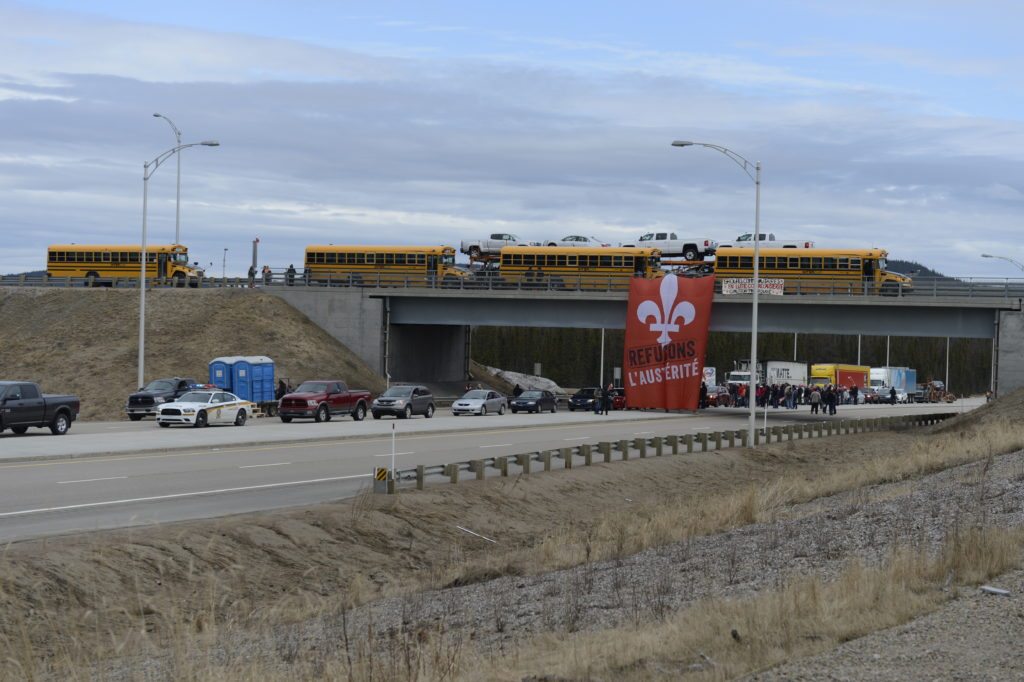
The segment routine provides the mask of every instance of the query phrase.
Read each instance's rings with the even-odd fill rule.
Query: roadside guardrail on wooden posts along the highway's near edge
[[[956,414],[937,413],[871,419],[842,419],[771,426],[755,430],[754,444],[761,444],[762,437],[767,444],[771,443],[773,438],[775,442],[781,442],[782,440],[802,440],[805,437],[821,438],[841,434],[931,426],[955,417]],[[679,455],[682,454],[681,451],[685,451],[686,454],[707,453],[712,450],[721,451],[726,447],[735,447],[737,442],[740,447],[746,447],[748,432],[745,429],[632,438],[615,442],[602,441],[596,444],[584,443],[571,447],[541,450],[519,455],[502,455],[450,464],[420,465],[388,472],[388,484],[384,489],[390,494],[400,489],[402,483],[409,487],[409,483],[415,482],[416,488],[422,491],[428,478],[436,477],[446,478],[449,482],[457,484],[462,479],[463,473],[472,474],[476,480],[483,480],[486,478],[488,470],[497,471],[503,477],[514,474],[529,475],[535,471],[535,464],[543,467],[544,471],[552,471],[558,460],[561,460],[562,463],[558,468],[572,469],[578,465],[591,466],[595,457],[600,458],[600,461],[605,463],[627,462],[631,459],[645,459],[648,456]]]

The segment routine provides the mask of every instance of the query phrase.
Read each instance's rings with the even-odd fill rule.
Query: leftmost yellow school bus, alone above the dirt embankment
[[[46,274],[51,278],[92,278],[110,286],[118,278],[138,279],[142,247],[138,244],[55,244],[47,250]],[[145,278],[165,278],[175,285],[196,284],[203,270],[188,264],[188,247],[147,244]]]

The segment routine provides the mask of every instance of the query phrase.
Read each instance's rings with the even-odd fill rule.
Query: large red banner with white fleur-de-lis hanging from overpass
[[[696,410],[715,278],[635,278],[623,358],[631,408]]]

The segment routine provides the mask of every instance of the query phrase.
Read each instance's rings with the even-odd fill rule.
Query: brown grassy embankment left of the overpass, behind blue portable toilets
[[[0,377],[76,393],[82,419],[123,419],[134,391],[138,293],[110,289],[0,291]],[[297,383],[342,378],[384,382],[348,348],[275,296],[248,289],[154,290],[146,294],[145,377],[195,377],[219,355],[267,355]]]

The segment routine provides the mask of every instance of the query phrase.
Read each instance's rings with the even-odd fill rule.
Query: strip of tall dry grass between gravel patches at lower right
[[[829,649],[931,611],[1021,565],[1024,530],[968,529],[938,556],[895,552],[880,567],[850,563],[831,582],[797,578],[749,599],[712,599],[639,628],[545,636],[514,655],[464,664],[462,679],[726,680]],[[511,665],[510,665],[511,664]]]

